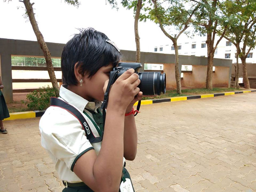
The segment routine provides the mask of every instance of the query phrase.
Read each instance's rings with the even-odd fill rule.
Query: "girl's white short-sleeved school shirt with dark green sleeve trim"
[[[101,105],[100,101],[89,102],[62,85],[60,87],[59,99],[68,102],[81,112],[89,124],[93,135],[100,137],[92,121],[83,114],[85,108],[96,112],[97,108]],[[94,121],[92,114],[88,113],[87,110],[86,112]],[[50,154],[60,179],[70,183],[82,182],[73,172],[76,160],[93,148],[98,155],[101,142],[91,144],[76,117],[60,107],[51,106],[47,108],[40,119],[39,130],[41,132],[41,145]]]

